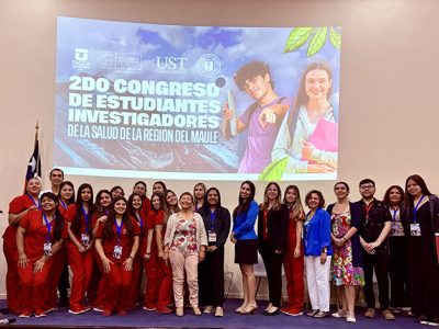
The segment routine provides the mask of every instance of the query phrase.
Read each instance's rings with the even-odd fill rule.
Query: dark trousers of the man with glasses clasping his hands
[[[364,270],[364,297],[368,308],[375,307],[375,294],[373,292],[373,271],[378,280],[378,292],[381,309],[389,308],[389,251],[387,249],[375,249],[374,254],[363,250]]]

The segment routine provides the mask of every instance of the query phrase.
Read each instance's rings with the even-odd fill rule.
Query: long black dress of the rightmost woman
[[[408,241],[412,313],[416,316],[439,318],[439,264],[435,251],[435,227],[432,227],[430,202],[434,201],[426,202],[416,212],[420,237],[410,236],[413,208],[405,212],[403,223]],[[435,208],[439,209],[436,206]],[[435,211],[435,213],[438,212]],[[434,216],[436,229],[439,226],[438,214]]]

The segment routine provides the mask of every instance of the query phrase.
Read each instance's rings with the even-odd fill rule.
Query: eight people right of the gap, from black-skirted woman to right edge
[[[322,192],[312,190],[305,196],[305,214],[297,186],[288,186],[281,203],[280,186],[269,183],[258,207],[252,201],[255,185],[244,182],[230,237],[236,243],[235,262],[241,269],[245,294],[236,311],[250,314],[257,308],[252,264],[259,249],[269,283],[267,316],[303,314],[305,268],[312,306],[308,316],[328,316],[333,281],[340,300],[333,317],[356,322],[354,305],[359,287],[363,287],[364,317],[373,318],[375,274],[384,319],[394,320],[394,313],[405,311],[421,324],[439,326],[439,198],[417,174],[407,178],[405,191],[390,186],[383,201],[374,197],[371,179],[360,181],[359,190],[361,200],[352,203],[349,185],[337,182],[337,202],[326,209]],[[258,235],[254,230],[257,218]],[[289,295],[283,308],[282,263]]]

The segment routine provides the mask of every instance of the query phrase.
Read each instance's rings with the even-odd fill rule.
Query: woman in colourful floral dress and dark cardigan
[[[336,183],[334,192],[337,202],[329,205],[327,211],[331,219],[334,245],[331,277],[337,285],[338,295],[341,297],[341,309],[333,314],[333,317],[346,317],[348,322],[356,322],[356,287],[364,285],[361,246],[358,235],[361,209],[349,202],[349,185],[347,183]]]

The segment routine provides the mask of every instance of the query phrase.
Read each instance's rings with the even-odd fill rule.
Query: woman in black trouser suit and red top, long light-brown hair
[[[282,192],[278,183],[271,182],[263,192],[259,206],[259,253],[267,271],[269,305],[263,313],[274,316],[280,313],[282,297],[282,262],[286,249],[289,213],[282,205]]]

